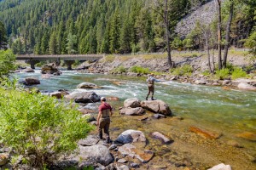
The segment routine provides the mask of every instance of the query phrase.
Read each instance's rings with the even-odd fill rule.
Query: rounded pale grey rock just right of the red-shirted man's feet
[[[146,137],[143,132],[130,129],[121,133],[115,141],[122,144],[134,142],[143,142],[144,144],[146,144]]]

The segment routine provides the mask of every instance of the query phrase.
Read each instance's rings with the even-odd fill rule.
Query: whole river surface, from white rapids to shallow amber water
[[[155,84],[154,97],[165,101],[170,106],[173,115],[183,117],[183,120],[167,117],[166,119],[149,119],[146,122],[141,122],[138,119],[145,116],[119,116],[118,110],[125,99],[134,97],[141,100],[145,99],[148,93],[145,82],[146,77],[110,76],[63,71],[60,77],[43,79],[39,70],[36,70],[35,73],[15,73],[15,77],[20,79],[38,77],[41,84],[36,87],[41,91],[56,91],[58,89],[67,89],[69,92],[91,91],[91,89],[77,89],[77,85],[81,82],[93,82],[101,86],[102,88],[93,89],[93,91],[100,96],[119,98],[119,101],[109,101],[115,108],[110,129],[112,138],[116,138],[119,133],[127,129],[143,131],[148,139],[148,149],[155,152],[152,164],[172,164],[170,159],[176,160],[176,162],[180,160],[186,162],[184,159],[189,159],[192,160],[190,165],[201,164],[201,166],[197,166],[199,169],[221,162],[230,164],[231,167],[234,167],[233,169],[255,169],[256,167],[255,162],[252,160],[252,157],[254,156],[255,158],[256,155],[255,92],[236,89],[224,90],[221,87],[174,81],[159,82]],[[98,105],[99,103],[90,104],[86,107],[96,110]],[[150,113],[147,113],[147,116],[150,117]],[[222,133],[222,136],[217,139],[217,143],[212,140],[208,141],[189,132],[190,126],[202,127],[212,132]],[[164,133],[174,139],[174,143],[169,145],[161,144],[157,140],[150,138],[150,133],[155,131]],[[239,133],[251,133],[253,134],[253,139],[239,138],[237,137]],[[243,148],[233,147],[234,149],[231,148],[226,152],[221,151],[229,148],[229,146],[225,145],[228,141],[234,140],[241,144]],[[220,146],[222,144],[224,145]],[[173,157],[173,152],[175,151],[179,152],[176,154],[179,156]],[[172,152],[172,156],[167,154],[169,152]],[[237,155],[237,153],[238,155],[242,153],[241,156],[248,157],[230,156]],[[209,161],[212,161],[212,165],[209,165]],[[241,168],[242,166],[247,167]]]

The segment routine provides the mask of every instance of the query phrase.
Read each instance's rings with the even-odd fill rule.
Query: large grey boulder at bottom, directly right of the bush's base
[[[107,146],[95,144],[92,146],[79,146],[80,161],[89,161],[91,165],[100,163],[103,166],[108,166],[113,161],[113,156],[109,152]]]

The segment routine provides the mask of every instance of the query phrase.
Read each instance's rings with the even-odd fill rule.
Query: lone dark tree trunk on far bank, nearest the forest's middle
[[[166,24],[166,46],[167,46],[167,54],[168,54],[168,65],[170,68],[173,67],[172,64],[172,56],[171,56],[171,47],[170,47],[170,32],[169,32],[169,20],[168,20],[168,0],[165,0],[166,9],[165,9],[165,24]]]

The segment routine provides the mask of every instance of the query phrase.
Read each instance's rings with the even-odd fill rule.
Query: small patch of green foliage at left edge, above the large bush
[[[15,54],[11,50],[0,50],[0,82],[10,71],[15,71]]]

